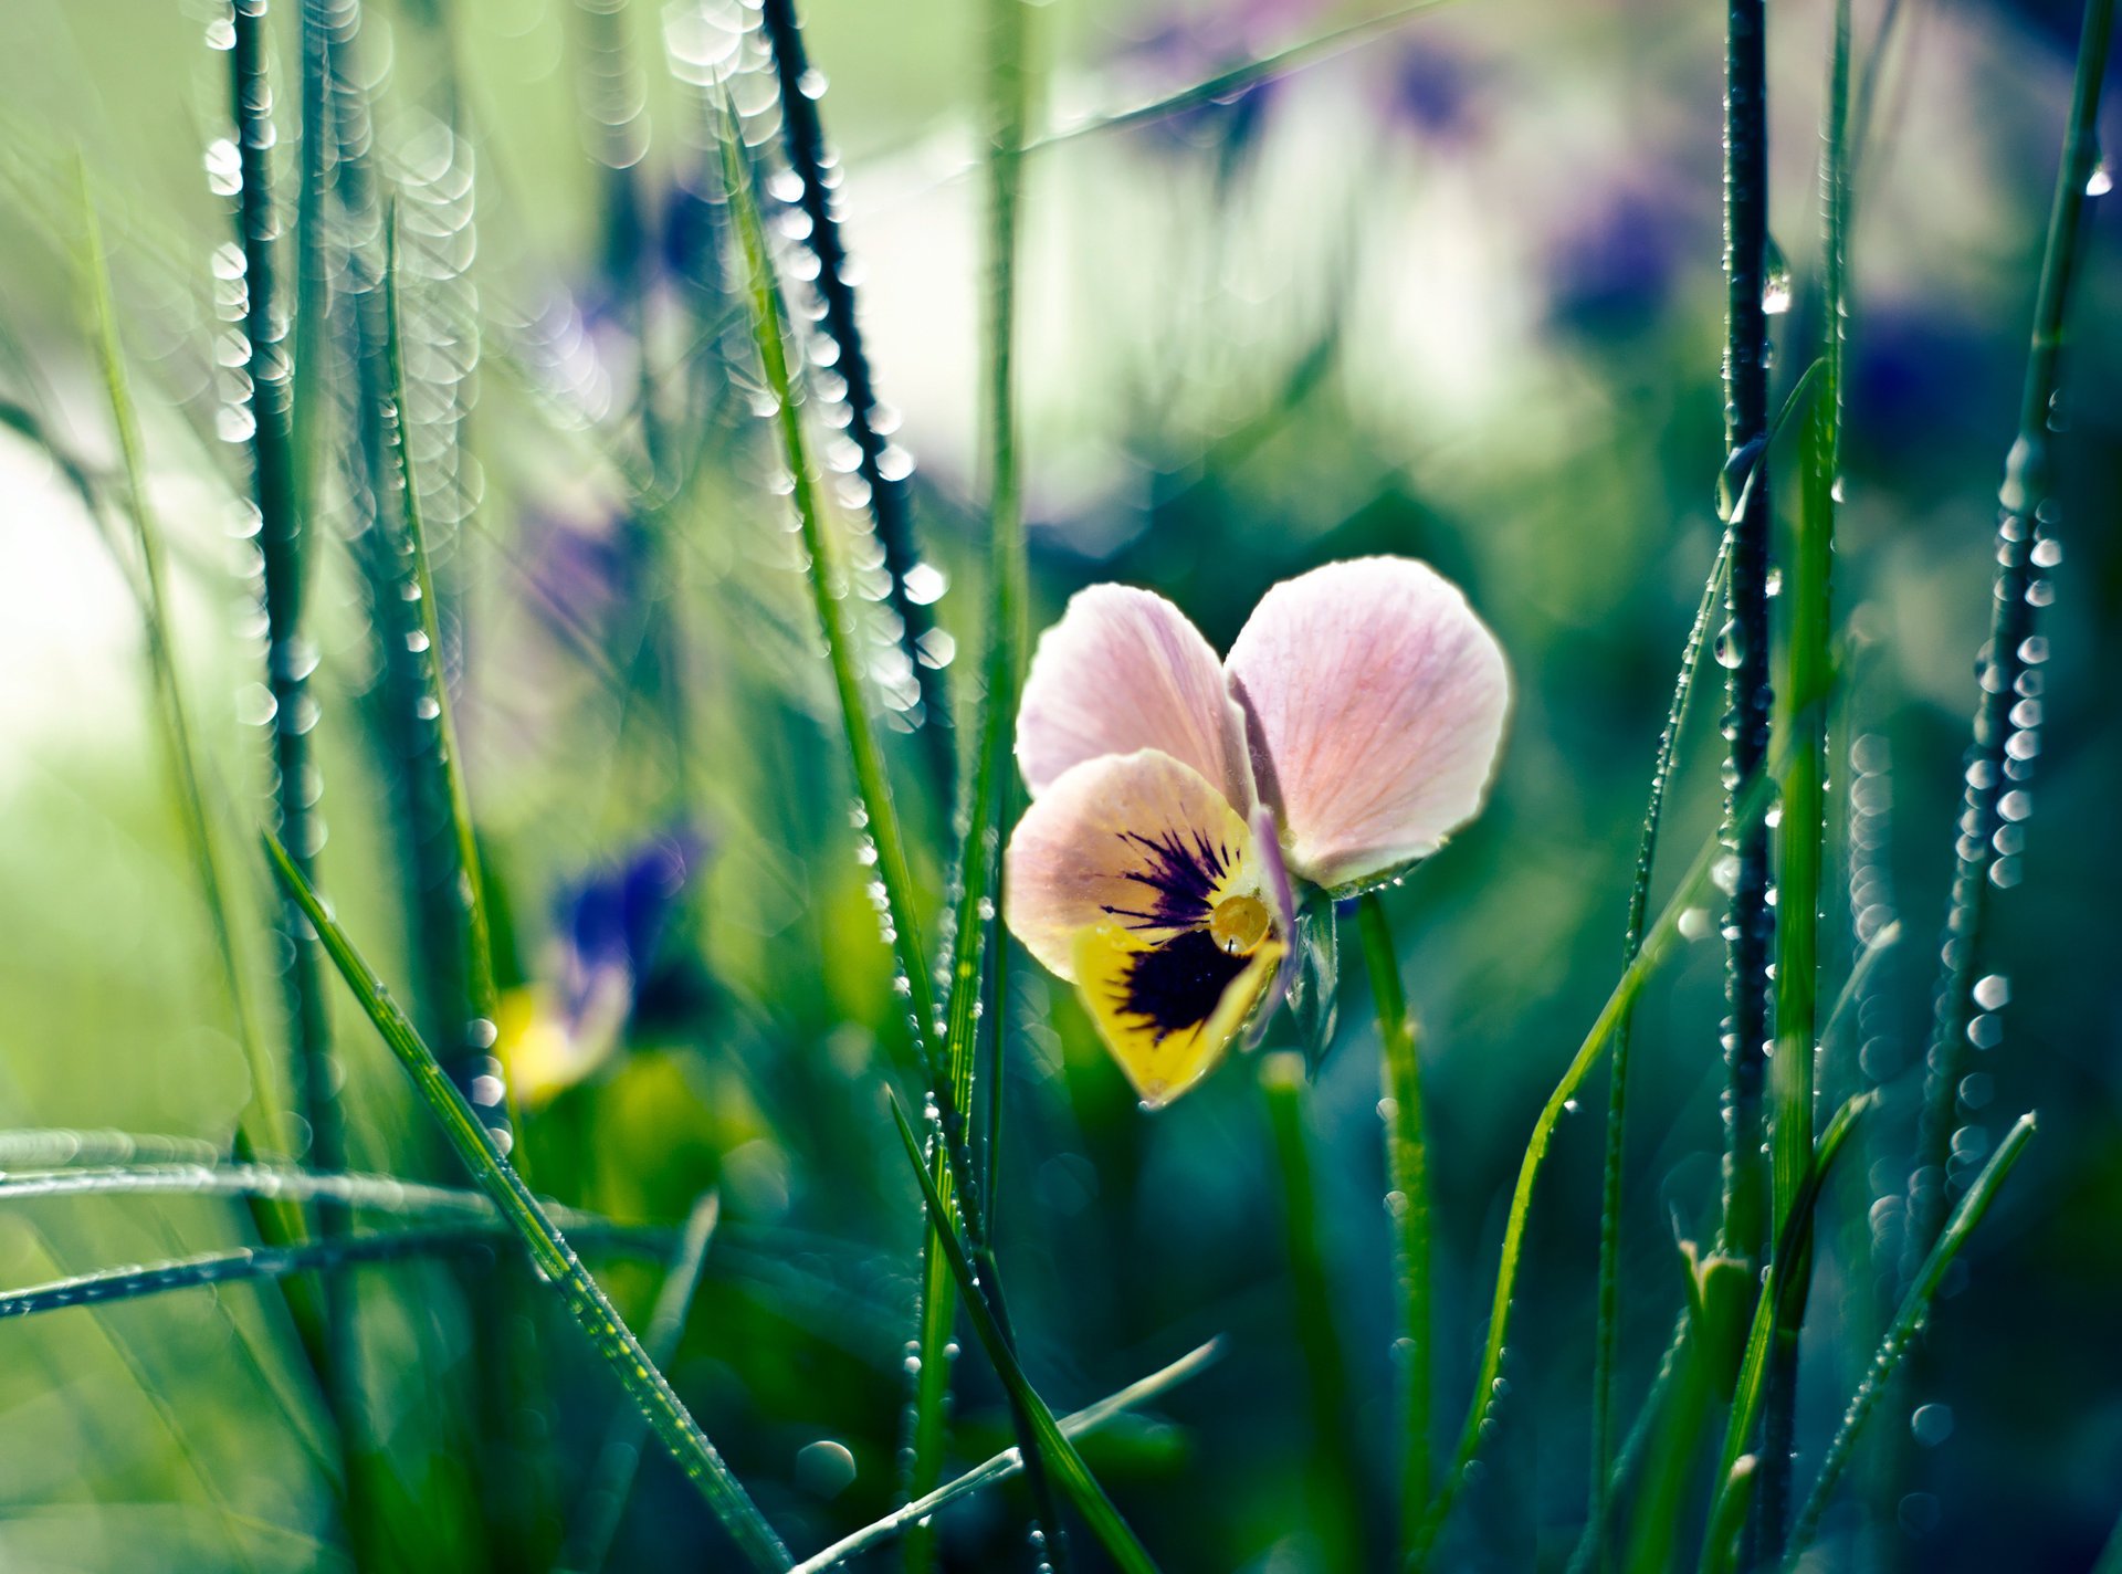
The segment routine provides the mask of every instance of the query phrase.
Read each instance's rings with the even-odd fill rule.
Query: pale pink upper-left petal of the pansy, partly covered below
[[[1163,596],[1129,585],[1078,592],[1040,636],[1016,711],[1016,764],[1031,795],[1069,766],[1161,749],[1233,802],[1250,802],[1241,721],[1216,651]]]

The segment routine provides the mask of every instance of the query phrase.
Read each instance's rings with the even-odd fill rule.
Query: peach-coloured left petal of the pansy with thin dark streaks
[[[1218,895],[1258,889],[1246,821],[1199,770],[1156,749],[1086,759],[1016,823],[1004,919],[1033,957],[1074,980],[1080,929],[1120,921],[1154,940],[1207,923],[1214,902],[1182,910],[1159,889],[1173,859]]]

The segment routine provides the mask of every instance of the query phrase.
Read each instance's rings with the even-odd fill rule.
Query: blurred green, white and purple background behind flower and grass
[[[1831,1088],[1878,1084],[1886,1101],[1829,1199],[1799,1479],[1876,1336],[1874,1256],[1899,1249],[1995,488],[2077,30],[2060,0],[1893,11],[1872,70],[1882,8],[1857,6],[1872,115],[1850,242],[1829,978],[1857,935],[1899,921],[1901,944],[1825,1050]],[[1819,333],[1829,8],[1772,13],[1787,390]],[[1532,1118],[1619,972],[1657,728],[1715,549],[1723,17],[1681,0],[1458,0],[1248,91],[1101,123],[1373,15],[1326,0],[1044,6],[1036,123],[1089,129],[1027,163],[1019,365],[1033,628],[1074,590],[1120,579],[1171,596],[1222,649],[1275,581],[1396,552],[1458,579],[1511,655],[1494,800],[1390,897],[1424,1029],[1443,1426],[1473,1381]],[[906,590],[934,622],[919,668],[887,609],[864,630],[919,878],[938,895],[951,812],[934,713],[946,687],[951,704],[976,698],[957,651],[978,649],[987,552],[978,6],[815,0],[806,23],[862,325],[898,414],[885,471],[910,477],[921,564]],[[87,471],[115,465],[81,314],[79,146],[170,532],[178,664],[269,1001],[214,25],[204,0],[0,13],[0,390],[45,412]],[[293,6],[274,28],[291,204]],[[673,1379],[808,1551],[898,1502],[921,1216],[876,1099],[904,1029],[828,670],[717,250],[702,100],[673,72],[694,38],[690,6],[645,0],[376,0],[354,59],[403,202],[416,439],[505,916],[499,1050],[520,1139],[543,1190],[624,1220],[679,1220],[719,1188]],[[2116,108],[2105,125],[2122,146]],[[2010,1005],[1963,1086],[1967,1162],[2022,1109],[2039,1109],[2041,1135],[1812,1568],[2084,1570],[2122,1512],[2118,223],[2092,206],[2075,303],[2035,815],[1993,916]],[[838,479],[876,590],[862,484]],[[0,1126],[225,1143],[248,1073],[115,535],[49,448],[0,429]],[[312,575],[318,865],[348,929],[418,1001],[433,959],[384,715],[390,660],[346,520],[318,520]],[[1683,740],[1668,870],[1715,823],[1719,709],[1700,698]],[[1681,1305],[1674,1232],[1702,1237],[1715,1216],[1715,914],[1689,925],[1698,944],[1638,1014],[1623,1413]],[[1354,957],[1345,982],[1339,1046],[1303,1101],[1354,1396],[1345,1428],[1320,1436],[1256,1063],[1233,1056],[1144,1114],[1072,991],[1029,961],[1010,969],[999,1232],[1031,1377],[1074,1409],[1227,1336],[1207,1375],[1086,1445],[1171,1570],[1326,1566],[1322,1459],[1352,1462],[1373,1536],[1390,1525],[1377,1033]],[[350,1162],[458,1182],[344,997],[337,1035]],[[1284,1022],[1271,1044],[1290,1042]],[[1560,1568],[1581,1525],[1602,1105],[1594,1082],[1549,1160],[1513,1398],[1454,1568]],[[240,1226],[210,1201],[15,1203],[0,1281],[199,1252]],[[609,1281],[645,1315],[649,1266],[613,1264]],[[424,1527],[395,1549],[407,1568],[488,1555],[458,1396],[494,1330],[456,1283],[424,1264],[359,1275],[371,1426]],[[528,1305],[511,1315],[543,1315]],[[533,1544],[581,1489],[615,1404],[552,1332],[552,1400],[522,1417],[556,1483]],[[340,1566],[320,1421],[259,1290],[11,1322],[0,1345],[0,1568]],[[1006,1413],[976,1351],[957,1381],[970,1464],[1008,1442]],[[942,1544],[951,1568],[1029,1568],[1019,1487],[953,1508]],[[688,1483],[647,1457],[611,1568],[728,1557]]]

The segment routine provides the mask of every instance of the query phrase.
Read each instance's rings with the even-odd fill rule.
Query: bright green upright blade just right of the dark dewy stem
[[[1778,717],[1789,768],[1776,827],[1776,1056],[1770,1067],[1770,1182],[1774,1228],[1789,1237],[1793,1209],[1812,1194],[1816,1103],[1821,868],[1827,840],[1827,702],[1836,689],[1833,558],[1842,490],[1842,350],[1848,242],[1850,0],[1836,0],[1821,127],[1821,361],[1825,382],[1799,441],[1797,541],[1785,588],[1791,634]],[[1797,1428],[1797,1351],[1812,1281],[1812,1232],[1793,1262],[1776,1262],[1774,1330],[1761,1440],[1755,1455],[1751,1561],[1774,1561],[1791,1515]],[[1763,1290],[1761,1302],[1770,1305]],[[1751,1417],[1746,1417],[1751,1421]],[[1727,1451],[1729,1470],[1736,1453]]]

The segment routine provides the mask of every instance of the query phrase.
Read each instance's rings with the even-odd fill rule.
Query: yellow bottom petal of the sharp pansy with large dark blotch
[[[1072,961],[1099,1037],[1156,1107],[1216,1067],[1284,950],[1275,933],[1231,955],[1205,927],[1152,938],[1108,919],[1076,933]]]

